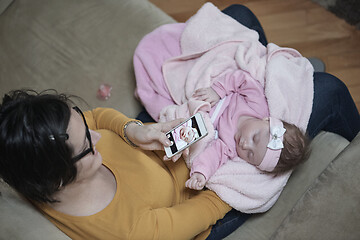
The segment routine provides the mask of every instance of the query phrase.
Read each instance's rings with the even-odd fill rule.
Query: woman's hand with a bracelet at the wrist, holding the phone
[[[139,126],[136,123],[130,123],[126,128],[126,136],[131,142],[144,150],[164,150],[170,147],[171,142],[166,137],[166,132],[179,125],[184,119],[176,119],[165,123],[153,123]],[[188,153],[188,150],[185,152]],[[181,157],[181,153],[171,158],[176,161]],[[170,160],[164,156],[164,160]]]

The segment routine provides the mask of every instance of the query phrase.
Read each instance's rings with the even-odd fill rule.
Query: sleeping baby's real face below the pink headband
[[[269,143],[269,129],[268,120],[240,117],[235,133],[236,152],[239,157],[252,165],[260,165]]]

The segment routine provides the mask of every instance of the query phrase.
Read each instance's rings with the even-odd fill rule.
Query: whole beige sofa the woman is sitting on
[[[134,49],[173,22],[146,0],[0,0],[0,94],[52,88],[81,97],[83,110],[136,117]],[[101,84],[112,86],[107,100]],[[360,134],[349,143],[321,132],[311,148],[276,204],[226,239],[360,239]],[[69,238],[0,180],[0,239]]]

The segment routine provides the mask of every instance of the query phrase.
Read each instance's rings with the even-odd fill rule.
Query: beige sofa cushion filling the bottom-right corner
[[[360,133],[326,168],[273,239],[360,239]]]

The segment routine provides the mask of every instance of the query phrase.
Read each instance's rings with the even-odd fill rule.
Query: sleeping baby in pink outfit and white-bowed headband
[[[220,166],[237,156],[269,173],[288,171],[307,158],[307,137],[295,125],[268,117],[262,86],[242,75],[238,80],[224,78],[193,95],[211,106],[225,96],[230,99],[214,122],[218,139],[193,160],[188,188],[201,190]]]

